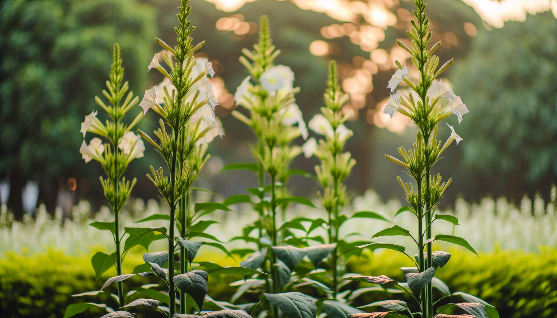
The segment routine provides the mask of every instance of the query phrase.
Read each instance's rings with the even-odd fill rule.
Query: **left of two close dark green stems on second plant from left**
[[[168,233],[168,296],[169,296],[169,310],[170,317],[176,313],[175,304],[175,287],[174,287],[174,227],[175,227],[175,214],[176,214],[176,203],[175,203],[175,187],[176,187],[176,156],[178,152],[178,136],[174,134],[174,145],[172,149],[172,171],[170,172],[170,226]]]

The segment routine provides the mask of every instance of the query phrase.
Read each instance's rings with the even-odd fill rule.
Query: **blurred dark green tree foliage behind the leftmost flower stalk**
[[[153,25],[152,11],[135,0],[0,4],[0,178],[10,179],[14,212],[27,180],[40,183],[40,201],[52,208],[58,180],[98,175],[83,169],[80,123],[105,88],[114,42],[142,93]]]

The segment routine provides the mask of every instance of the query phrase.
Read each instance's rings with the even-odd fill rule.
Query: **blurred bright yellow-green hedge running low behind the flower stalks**
[[[436,275],[451,287],[451,291],[460,290],[481,297],[497,306],[501,317],[557,317],[557,249],[543,249],[539,253],[496,251],[480,254],[479,258],[462,249],[452,252],[451,261]],[[129,272],[133,265],[142,262],[140,255],[139,249],[130,253],[124,270]],[[214,255],[210,258],[221,265],[232,265],[231,260]],[[60,318],[68,304],[92,301],[69,295],[97,290],[104,279],[115,273],[108,271],[100,281],[95,281],[89,260],[90,257],[67,256],[56,251],[1,256],[0,316]],[[402,280],[397,269],[400,266],[408,266],[407,259],[390,252],[352,258],[349,264],[350,271]],[[214,299],[228,300],[233,290],[227,282],[232,277],[222,278],[210,282],[209,290]],[[126,281],[128,286],[142,283],[147,283],[143,277]],[[358,304],[374,300],[370,297],[385,298],[384,295],[365,297],[358,299]],[[99,317],[99,314],[101,312],[85,312],[79,317]]]

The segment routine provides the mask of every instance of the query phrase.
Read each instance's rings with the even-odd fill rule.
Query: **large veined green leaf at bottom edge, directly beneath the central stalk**
[[[263,293],[288,318],[315,318],[317,305],[301,292]]]

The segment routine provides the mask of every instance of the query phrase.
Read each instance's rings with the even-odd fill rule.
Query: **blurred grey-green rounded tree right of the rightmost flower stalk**
[[[551,12],[483,31],[452,72],[470,114],[459,127],[469,189],[549,196],[557,180],[557,19]],[[459,147],[461,146],[459,145]]]

